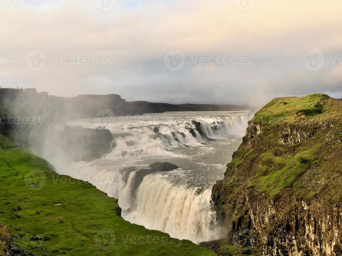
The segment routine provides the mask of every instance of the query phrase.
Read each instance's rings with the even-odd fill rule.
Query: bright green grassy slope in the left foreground
[[[0,136],[1,143],[7,140]],[[45,160],[21,149],[1,148],[0,187],[0,224],[15,236],[14,244],[34,255],[213,255],[130,224],[118,216],[116,199],[54,173]],[[35,236],[42,240],[31,241]]]

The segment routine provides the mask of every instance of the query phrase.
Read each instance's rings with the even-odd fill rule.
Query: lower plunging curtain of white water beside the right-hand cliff
[[[160,174],[145,177],[137,191],[136,210],[124,218],[195,243],[218,239],[220,234],[211,189],[198,193],[197,188],[176,186]]]

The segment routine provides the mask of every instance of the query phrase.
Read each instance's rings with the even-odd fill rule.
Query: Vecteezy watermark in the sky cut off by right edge
[[[330,54],[327,61],[324,53],[320,49],[312,49],[303,56],[303,65],[310,71],[321,70],[324,67],[324,64],[329,61],[332,66],[342,65],[342,55]]]

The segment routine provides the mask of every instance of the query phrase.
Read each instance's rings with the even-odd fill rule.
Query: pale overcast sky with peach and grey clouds
[[[0,0],[0,84],[169,103],[342,98],[341,0]]]

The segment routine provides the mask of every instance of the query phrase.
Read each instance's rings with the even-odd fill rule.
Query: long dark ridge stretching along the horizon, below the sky
[[[33,103],[34,102],[34,103]],[[126,101],[117,94],[78,95],[56,97],[36,88],[0,89],[0,114],[7,112],[43,115],[53,122],[93,118],[98,112],[111,110],[116,116],[163,113],[167,111],[238,111],[250,109],[246,105],[170,104],[147,101]],[[111,114],[110,114],[111,115]]]

